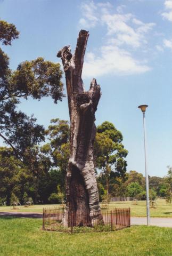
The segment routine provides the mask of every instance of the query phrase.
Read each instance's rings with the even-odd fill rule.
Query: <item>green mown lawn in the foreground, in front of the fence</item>
[[[42,220],[0,218],[1,256],[169,256],[172,229],[133,226],[120,231],[60,234],[42,231]]]

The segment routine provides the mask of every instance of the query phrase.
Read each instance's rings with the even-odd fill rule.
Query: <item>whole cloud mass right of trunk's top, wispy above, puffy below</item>
[[[138,74],[150,70],[144,61],[137,60],[130,52],[137,49],[144,52],[148,44],[146,34],[155,23],[144,23],[136,19],[132,13],[124,13],[125,5],[114,7],[109,3],[81,4],[83,17],[79,20],[82,29],[103,26],[107,29],[104,36],[106,43],[102,45],[97,56],[92,52],[86,54],[84,76],[105,74]],[[131,51],[130,51],[131,48]],[[125,50],[127,49],[127,50]]]

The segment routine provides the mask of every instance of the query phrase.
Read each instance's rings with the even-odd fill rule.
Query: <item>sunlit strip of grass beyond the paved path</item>
[[[0,206],[0,212],[43,212],[43,207],[54,207],[60,205],[32,205],[29,207],[20,206],[18,210],[14,210],[12,206]],[[137,205],[133,202],[111,202],[110,207],[126,208],[130,207],[131,215],[137,217],[146,216],[146,201],[138,201]],[[172,204],[166,204],[165,199],[157,199],[157,208],[150,209],[151,217],[172,217]],[[171,254],[172,255],[172,254]]]

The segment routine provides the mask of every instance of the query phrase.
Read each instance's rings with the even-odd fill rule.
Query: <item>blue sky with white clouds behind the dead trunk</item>
[[[163,177],[172,165],[172,0],[0,0],[0,17],[14,23],[20,37],[3,50],[10,67],[38,56],[56,58],[64,45],[75,50],[80,29],[89,30],[83,80],[101,85],[96,125],[112,122],[124,136],[127,170],[144,174],[143,120],[138,105],[148,104],[148,172]],[[64,78],[63,78],[64,81]],[[64,81],[65,83],[65,81]],[[45,127],[69,119],[67,98],[22,100]]]

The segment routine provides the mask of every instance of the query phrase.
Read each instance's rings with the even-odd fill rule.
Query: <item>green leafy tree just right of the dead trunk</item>
[[[121,177],[125,180],[128,151],[122,145],[122,134],[108,121],[97,126],[94,142],[94,158],[97,169],[105,176],[109,193],[110,179]]]

